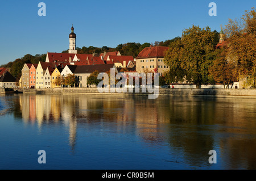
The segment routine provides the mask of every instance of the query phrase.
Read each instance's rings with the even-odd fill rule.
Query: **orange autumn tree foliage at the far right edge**
[[[229,19],[225,26],[229,50],[236,57],[240,75],[245,75],[255,86],[256,79],[256,12],[245,11],[241,19]]]

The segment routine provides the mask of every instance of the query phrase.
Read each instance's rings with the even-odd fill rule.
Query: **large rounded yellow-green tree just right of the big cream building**
[[[170,73],[174,77],[184,75],[197,88],[213,83],[208,69],[214,60],[214,35],[209,27],[193,26],[184,30],[183,39],[172,43],[164,58]]]

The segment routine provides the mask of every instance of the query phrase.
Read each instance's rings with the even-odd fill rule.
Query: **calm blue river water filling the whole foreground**
[[[1,95],[0,169],[256,169],[255,108],[256,99]]]

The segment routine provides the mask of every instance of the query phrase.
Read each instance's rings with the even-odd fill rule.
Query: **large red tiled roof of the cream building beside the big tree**
[[[139,54],[137,58],[163,58],[164,52],[169,47],[146,47]]]

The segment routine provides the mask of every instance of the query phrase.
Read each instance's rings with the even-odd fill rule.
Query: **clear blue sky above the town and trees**
[[[38,15],[39,2],[46,3],[46,16]],[[210,2],[217,4],[217,16],[208,15]],[[229,18],[240,18],[255,5],[255,0],[2,1],[0,65],[28,53],[69,49],[72,24],[77,47],[115,48],[172,39],[193,24],[220,31]]]

